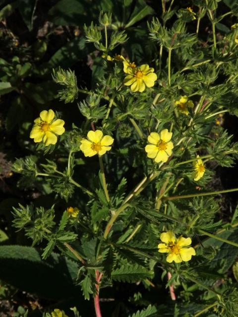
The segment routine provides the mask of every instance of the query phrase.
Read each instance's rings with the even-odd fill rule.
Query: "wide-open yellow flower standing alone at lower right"
[[[195,256],[195,250],[190,247],[192,243],[190,238],[183,238],[180,236],[176,239],[173,231],[163,232],[160,235],[160,240],[164,243],[158,245],[159,252],[169,253],[166,258],[166,261],[171,263],[180,263],[182,261],[190,261],[192,256]]]

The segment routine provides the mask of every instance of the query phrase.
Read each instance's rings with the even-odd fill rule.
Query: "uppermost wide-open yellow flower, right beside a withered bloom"
[[[144,64],[139,67],[127,67],[126,73],[128,74],[124,78],[124,85],[131,86],[130,89],[133,92],[143,92],[146,87],[153,87],[157,80],[157,75],[154,73],[154,68]]]

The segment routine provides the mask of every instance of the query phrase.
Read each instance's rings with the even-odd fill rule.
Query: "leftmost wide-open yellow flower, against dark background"
[[[52,109],[41,111],[39,118],[34,120],[35,124],[30,134],[30,138],[34,139],[34,142],[41,142],[43,139],[46,146],[56,144],[57,135],[63,134],[65,129],[64,121],[54,120],[54,117],[55,112]]]

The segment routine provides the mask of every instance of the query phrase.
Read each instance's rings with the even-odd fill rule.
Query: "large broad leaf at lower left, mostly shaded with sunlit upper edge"
[[[0,279],[42,298],[60,300],[74,296],[79,291],[73,284],[77,271],[75,262],[56,253],[43,261],[35,248],[0,246]]]

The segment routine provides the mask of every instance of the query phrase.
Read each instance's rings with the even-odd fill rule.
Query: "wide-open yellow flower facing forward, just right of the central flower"
[[[158,162],[166,162],[172,154],[174,148],[173,143],[170,141],[173,133],[168,129],[162,130],[160,133],[151,132],[148,136],[148,142],[145,147],[145,152],[148,158],[155,159]]]

